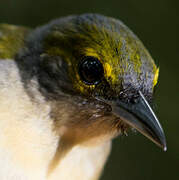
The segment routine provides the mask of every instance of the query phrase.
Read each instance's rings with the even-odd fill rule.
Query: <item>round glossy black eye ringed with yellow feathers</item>
[[[79,64],[79,75],[86,84],[98,84],[104,75],[103,65],[97,58],[85,57]]]

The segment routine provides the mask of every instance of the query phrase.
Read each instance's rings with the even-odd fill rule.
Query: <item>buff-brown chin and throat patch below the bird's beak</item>
[[[110,105],[106,103],[98,101],[84,103],[81,99],[65,99],[65,102],[61,100],[55,103],[58,103],[54,105],[58,108],[52,109],[51,112],[55,131],[74,145],[93,146],[104,143],[120,134],[126,135],[129,129],[129,125],[113,114]]]

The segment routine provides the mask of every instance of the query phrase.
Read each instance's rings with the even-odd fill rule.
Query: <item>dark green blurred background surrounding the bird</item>
[[[115,139],[101,179],[179,179],[179,1],[0,0],[0,23],[35,27],[57,17],[86,12],[121,19],[159,65],[157,115],[168,144],[167,152],[163,152],[139,133]]]

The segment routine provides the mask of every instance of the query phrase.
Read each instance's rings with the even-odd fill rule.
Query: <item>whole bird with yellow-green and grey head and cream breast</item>
[[[97,180],[136,129],[166,150],[152,110],[159,68],[120,20],[0,24],[0,179]]]

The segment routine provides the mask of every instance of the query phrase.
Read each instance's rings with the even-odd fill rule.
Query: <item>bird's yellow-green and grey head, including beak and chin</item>
[[[74,143],[102,141],[132,127],[166,149],[149,102],[159,69],[121,21],[69,16],[33,31],[17,64],[27,89],[36,78],[54,129]]]

